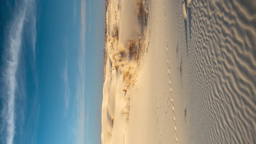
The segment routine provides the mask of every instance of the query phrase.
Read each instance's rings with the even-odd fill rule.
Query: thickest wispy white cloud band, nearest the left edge
[[[5,71],[5,82],[7,85],[7,108],[4,112],[4,118],[7,129],[6,143],[13,143],[15,133],[15,91],[16,91],[16,70],[19,64],[19,55],[21,47],[21,34],[25,20],[26,9],[20,11],[15,17],[11,26],[9,35],[9,58],[7,61],[7,69]]]

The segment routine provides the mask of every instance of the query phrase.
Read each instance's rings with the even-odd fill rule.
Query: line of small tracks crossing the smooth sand
[[[165,10],[165,28],[166,28],[166,32],[167,32],[167,26],[166,26],[166,1],[164,4],[164,10]],[[177,124],[175,121],[175,112],[174,112],[174,101],[173,101],[173,96],[172,96],[172,86],[171,86],[171,79],[170,79],[170,67],[168,66],[169,64],[169,56],[168,56],[168,44],[167,44],[167,33],[166,33],[166,55],[167,55],[167,70],[168,70],[168,77],[169,77],[169,87],[170,87],[170,93],[171,93],[171,103],[172,103],[172,113],[173,113],[173,121],[174,121],[174,131],[175,131],[175,140],[176,143],[178,142],[178,136],[177,136]]]

